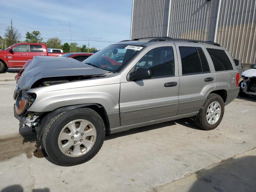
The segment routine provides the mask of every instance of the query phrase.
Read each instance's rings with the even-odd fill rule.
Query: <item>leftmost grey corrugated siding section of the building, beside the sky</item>
[[[166,36],[169,0],[134,0],[131,39]]]

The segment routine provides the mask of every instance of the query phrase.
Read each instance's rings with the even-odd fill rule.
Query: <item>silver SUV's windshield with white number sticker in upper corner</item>
[[[143,48],[143,46],[134,45],[110,45],[93,54],[83,63],[111,72],[120,72]]]

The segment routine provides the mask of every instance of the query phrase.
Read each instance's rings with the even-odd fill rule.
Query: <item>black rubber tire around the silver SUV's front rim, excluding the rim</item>
[[[69,157],[63,154],[58,146],[58,136],[62,128],[69,122],[77,119],[85,119],[96,128],[96,141],[94,146],[84,155]],[[84,163],[93,158],[100,150],[105,139],[105,125],[100,115],[90,108],[78,108],[64,111],[54,116],[43,131],[43,146],[54,164],[60,166],[73,166]]]

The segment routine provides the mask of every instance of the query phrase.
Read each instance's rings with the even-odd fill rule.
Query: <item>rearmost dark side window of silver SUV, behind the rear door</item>
[[[226,52],[220,49],[206,48],[212,58],[215,71],[233,70],[233,66]]]

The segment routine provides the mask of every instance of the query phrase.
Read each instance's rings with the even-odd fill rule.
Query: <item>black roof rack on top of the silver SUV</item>
[[[155,42],[155,41],[185,41],[185,42],[195,42],[195,43],[207,43],[207,44],[213,44],[216,46],[220,46],[220,44],[213,42],[213,41],[201,41],[201,40],[194,40],[194,39],[181,39],[181,38],[171,38],[171,37],[144,37],[144,38],[136,38],[131,41],[138,41],[140,39],[149,39],[151,38],[152,40],[149,40],[148,42]],[[123,40],[120,42],[125,42],[125,41],[130,41],[130,40]]]

